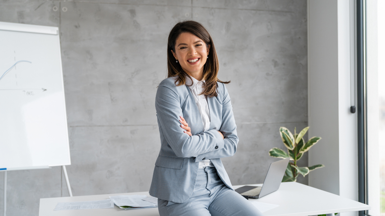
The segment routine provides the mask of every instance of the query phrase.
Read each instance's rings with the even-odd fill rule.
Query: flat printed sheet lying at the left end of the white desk
[[[104,199],[86,202],[57,203],[54,211],[99,208],[114,208],[114,201],[112,201],[111,199]]]

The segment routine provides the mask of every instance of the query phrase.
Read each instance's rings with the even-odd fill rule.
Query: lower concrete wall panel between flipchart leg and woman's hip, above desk
[[[157,125],[70,127],[70,134],[67,172],[76,196],[149,190],[161,146]]]

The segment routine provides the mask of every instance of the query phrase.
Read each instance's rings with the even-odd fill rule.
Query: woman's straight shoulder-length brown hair
[[[203,25],[199,22],[187,20],[177,23],[174,28],[171,29],[167,42],[167,77],[175,76],[175,85],[177,86],[186,84],[187,73],[182,69],[181,65],[176,62],[176,59],[171,52],[171,50],[175,52],[176,39],[181,33],[184,32],[192,33],[196,37],[201,38],[204,43],[206,43],[206,47],[211,45],[208,55],[209,58],[203,66],[203,80],[205,80],[205,85],[202,94],[210,98],[215,97],[218,95],[216,92],[216,88],[218,88],[217,81],[226,84],[230,83],[230,81],[225,82],[218,80],[217,76],[219,70],[219,62],[216,55],[213,39],[211,38],[206,28],[204,28]]]

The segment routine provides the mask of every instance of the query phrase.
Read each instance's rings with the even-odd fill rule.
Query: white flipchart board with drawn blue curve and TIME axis
[[[0,22],[0,169],[71,164],[58,32]]]

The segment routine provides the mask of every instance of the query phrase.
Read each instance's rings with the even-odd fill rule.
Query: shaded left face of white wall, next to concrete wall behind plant
[[[309,185],[339,194],[337,1],[308,0],[309,138],[320,140],[309,151]]]

